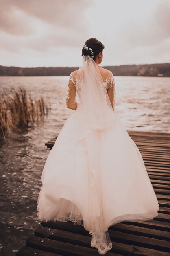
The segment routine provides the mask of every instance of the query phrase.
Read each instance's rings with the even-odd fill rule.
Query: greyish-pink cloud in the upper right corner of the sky
[[[141,14],[140,11],[138,14]],[[170,1],[162,1],[153,9],[153,15],[146,13],[143,19],[129,19],[122,39],[128,47],[154,46],[170,38],[169,24]]]

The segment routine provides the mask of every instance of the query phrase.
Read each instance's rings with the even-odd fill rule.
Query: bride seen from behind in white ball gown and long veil
[[[112,248],[109,226],[159,211],[139,149],[115,113],[114,76],[99,66],[104,48],[87,40],[83,65],[70,74],[66,104],[75,111],[46,159],[37,202],[40,220],[83,225],[99,254]]]

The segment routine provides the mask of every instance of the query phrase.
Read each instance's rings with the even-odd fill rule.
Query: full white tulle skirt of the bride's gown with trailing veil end
[[[159,204],[139,149],[117,114],[112,112],[112,126],[104,130],[85,130],[80,115],[75,111],[66,120],[46,159],[37,215],[45,222],[83,225],[91,247],[105,254],[112,248],[109,226],[151,220]]]

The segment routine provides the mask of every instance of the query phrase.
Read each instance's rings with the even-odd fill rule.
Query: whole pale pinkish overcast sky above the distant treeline
[[[0,65],[78,67],[92,37],[102,66],[170,63],[170,0],[0,0]]]

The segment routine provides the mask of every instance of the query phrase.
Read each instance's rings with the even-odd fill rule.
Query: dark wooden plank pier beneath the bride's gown
[[[146,222],[109,227],[113,248],[106,256],[170,256],[170,133],[128,131],[139,148],[159,202],[159,214]],[[56,137],[57,138],[57,137]],[[52,148],[56,138],[46,146]],[[74,222],[41,222],[17,256],[99,256],[91,235]]]

